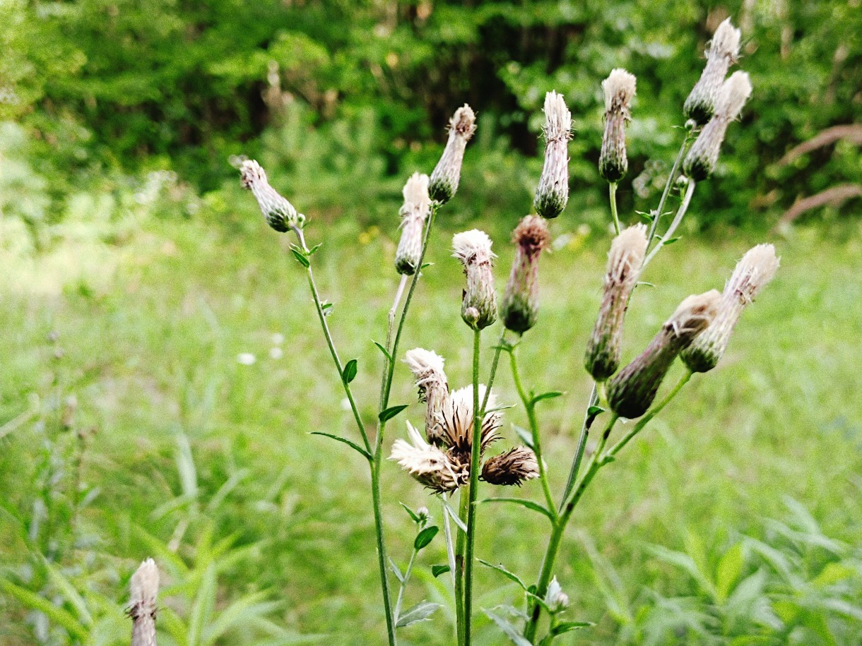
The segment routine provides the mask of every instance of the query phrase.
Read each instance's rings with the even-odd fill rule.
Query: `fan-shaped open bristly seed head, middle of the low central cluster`
[[[485,396],[484,384],[479,384],[479,406]],[[479,450],[484,450],[499,438],[497,430],[503,424],[503,413],[495,411],[497,397],[491,392],[488,395],[488,405],[482,419],[482,429],[479,435]],[[443,402],[437,413],[437,425],[440,430],[443,445],[449,449],[450,457],[459,462],[470,464],[470,454],[473,445],[473,387],[465,386],[453,390]]]

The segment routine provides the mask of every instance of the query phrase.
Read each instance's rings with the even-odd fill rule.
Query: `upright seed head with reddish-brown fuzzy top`
[[[540,215],[528,215],[515,227],[515,261],[503,295],[503,325],[523,334],[533,327],[539,313],[539,256],[551,234]]]

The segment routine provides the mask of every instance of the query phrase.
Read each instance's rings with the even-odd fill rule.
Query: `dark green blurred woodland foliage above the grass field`
[[[55,202],[70,184],[113,185],[118,173],[153,169],[176,171],[205,193],[234,181],[229,155],[248,154],[270,162],[291,195],[307,196],[303,208],[337,214],[349,205],[375,219],[370,202],[427,167],[448,116],[470,102],[485,135],[476,164],[497,185],[468,207],[491,216],[528,190],[522,168],[536,163],[542,99],[558,90],[578,131],[573,207],[589,220],[603,204],[601,191],[585,188],[600,184],[599,82],[625,66],[639,90],[621,190],[631,211],[666,171],[658,160],[678,146],[671,128],[709,35],[728,15],[743,31],[740,63],[754,94],[728,134],[735,154],[698,191],[695,207],[709,206],[701,221],[772,223],[801,196],[862,180],[858,142],[778,164],[824,128],[860,121],[859,0],[0,6],[10,18],[0,24],[0,118],[26,127],[34,171]],[[639,175],[640,194],[631,188]],[[839,213],[858,205],[845,202]]]

